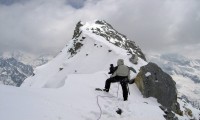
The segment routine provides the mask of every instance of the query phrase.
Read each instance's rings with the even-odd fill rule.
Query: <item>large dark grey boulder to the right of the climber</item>
[[[135,83],[144,97],[155,97],[161,105],[180,114],[176,83],[156,64],[150,62],[141,67]]]

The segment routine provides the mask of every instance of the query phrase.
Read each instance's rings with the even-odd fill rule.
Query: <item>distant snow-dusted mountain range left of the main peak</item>
[[[19,87],[33,74],[33,69],[51,60],[51,55],[32,56],[22,51],[4,52],[0,56],[0,84]]]

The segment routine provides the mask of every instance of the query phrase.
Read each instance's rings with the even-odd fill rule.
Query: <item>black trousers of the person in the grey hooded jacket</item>
[[[124,100],[127,100],[128,99],[127,83],[123,82],[123,79],[126,79],[126,78],[127,77],[123,77],[123,76],[115,76],[112,78],[108,78],[106,80],[105,89],[107,89],[109,91],[111,83],[120,82],[120,84],[122,86]]]

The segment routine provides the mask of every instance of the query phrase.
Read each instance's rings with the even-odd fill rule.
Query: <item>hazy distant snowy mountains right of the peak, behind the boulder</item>
[[[200,59],[191,59],[180,54],[163,54],[150,56],[149,60],[170,75],[182,75],[200,83]]]

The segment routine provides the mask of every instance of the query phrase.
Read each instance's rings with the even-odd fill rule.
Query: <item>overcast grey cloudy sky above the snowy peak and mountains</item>
[[[0,0],[0,52],[58,53],[78,21],[103,19],[145,54],[200,58],[200,0]]]

